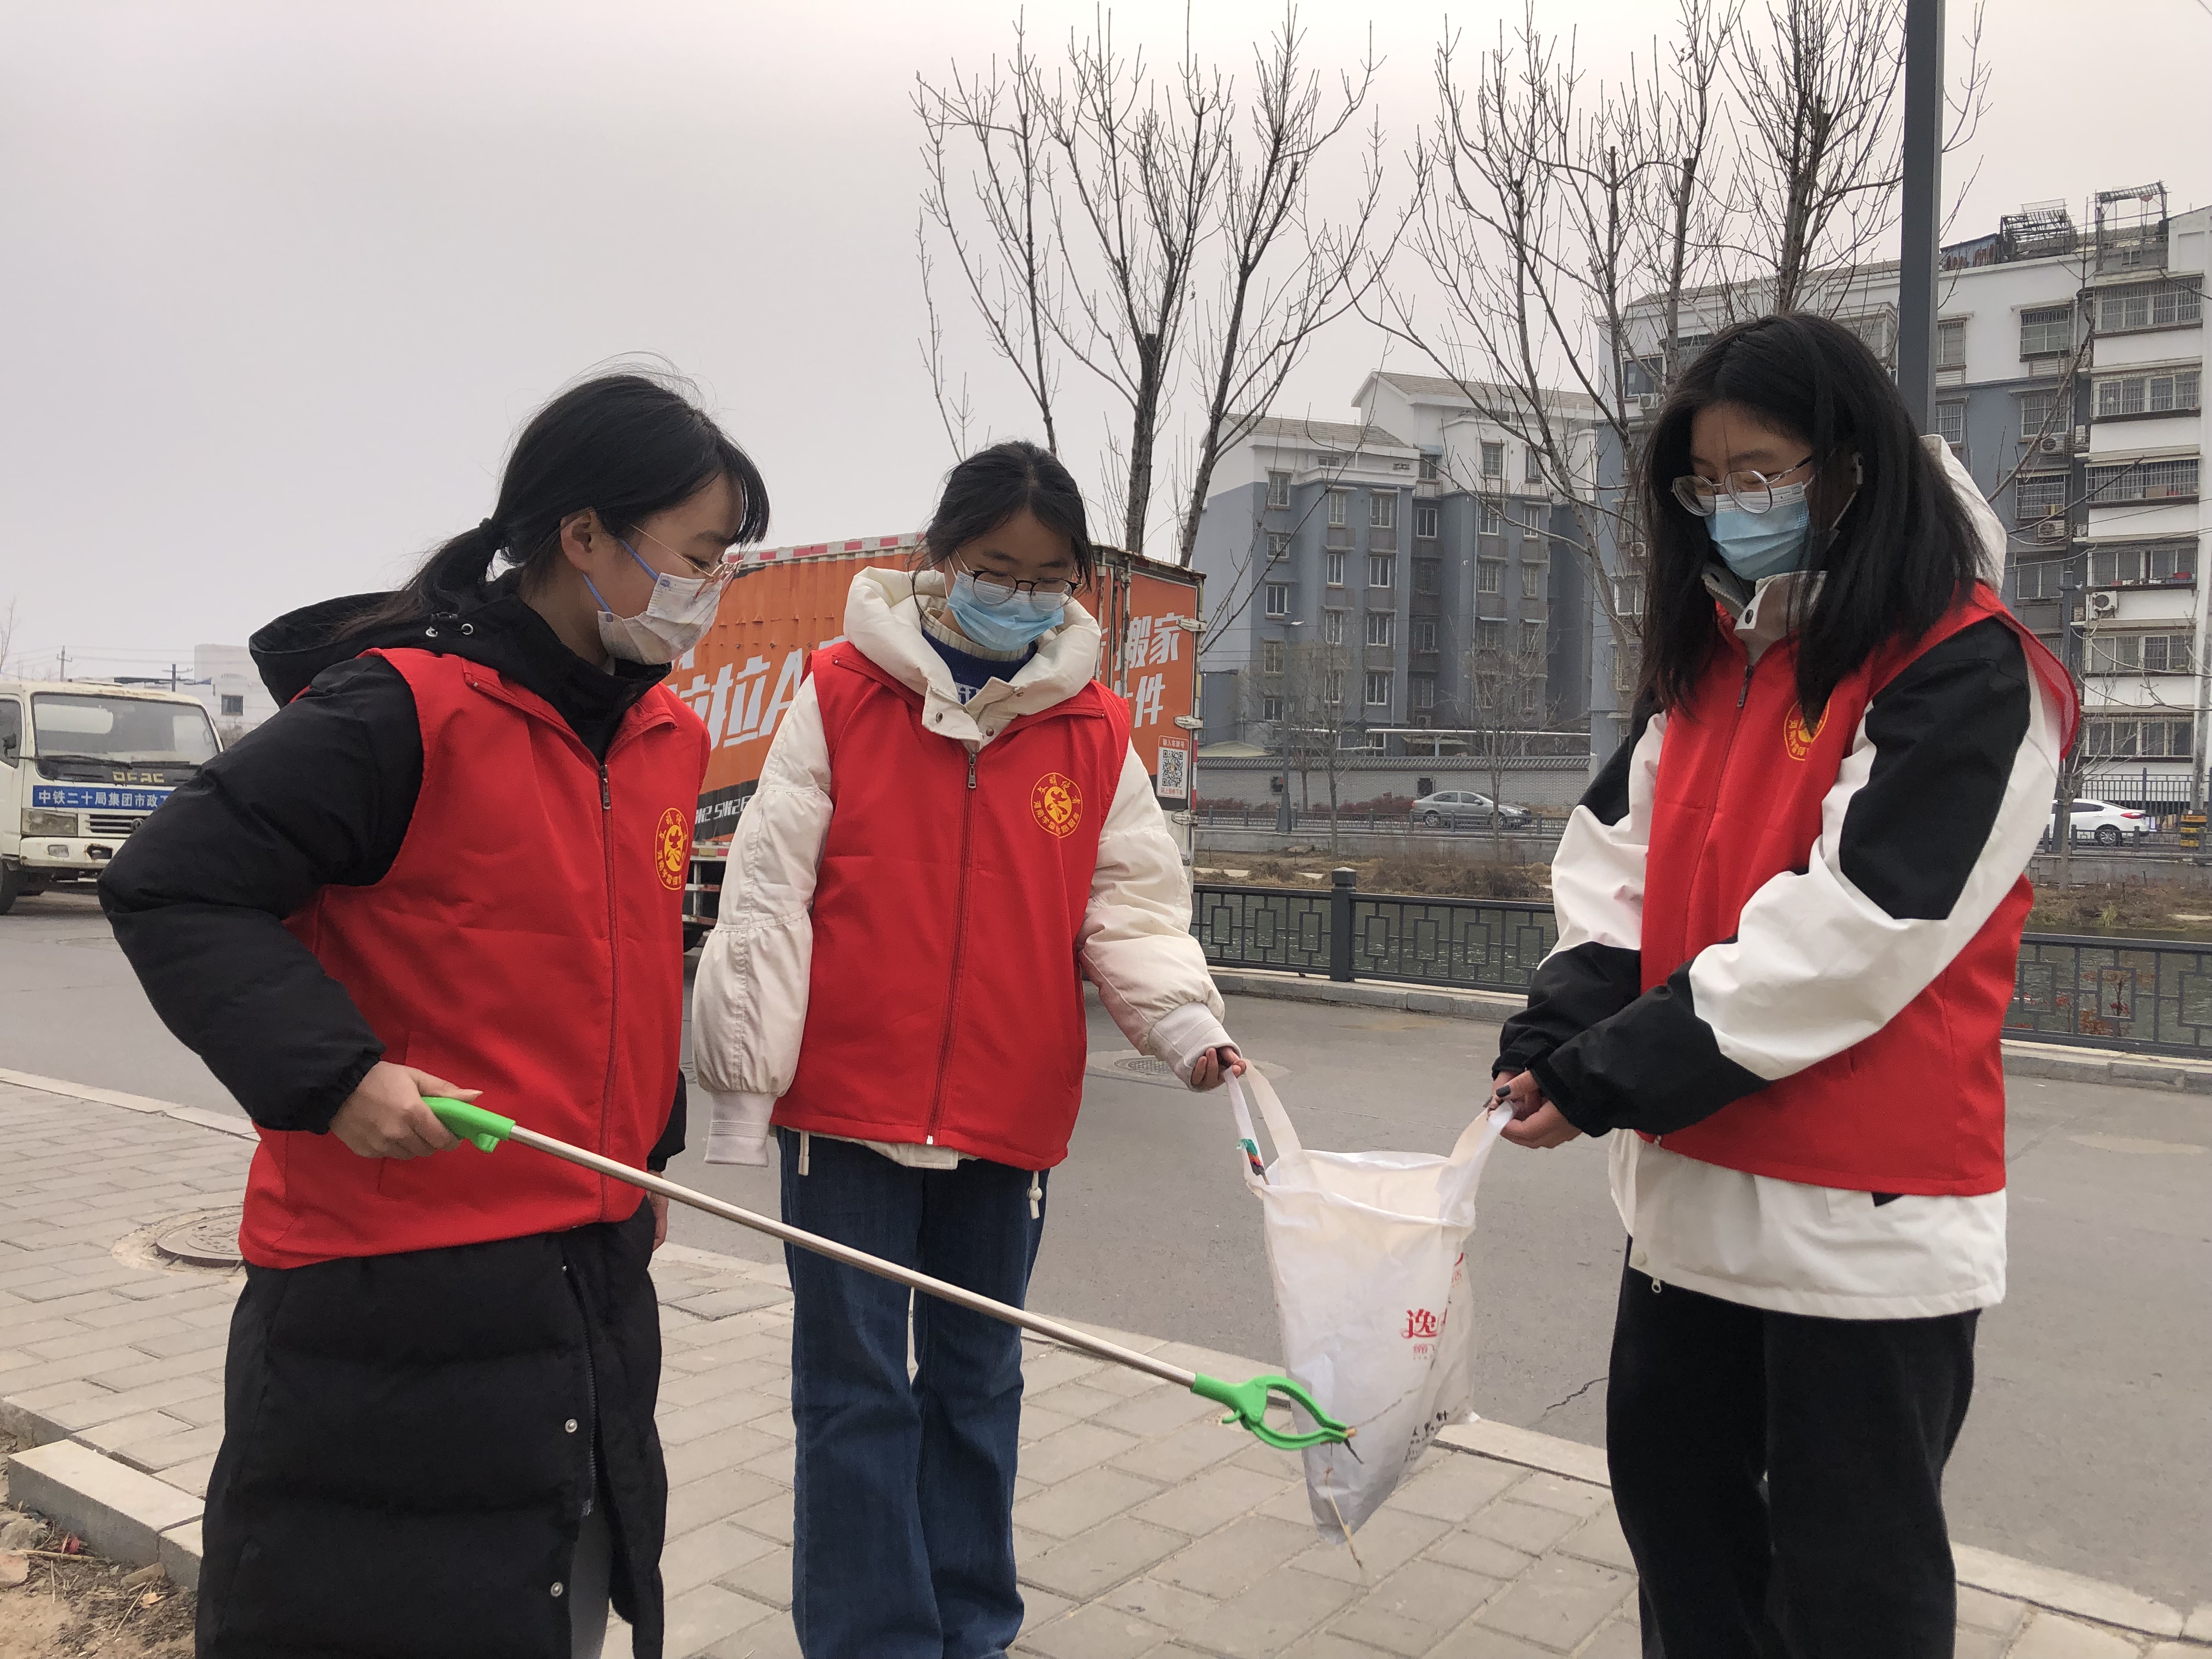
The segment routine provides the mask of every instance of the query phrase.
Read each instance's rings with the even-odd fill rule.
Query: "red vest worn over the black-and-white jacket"
[[[1796,641],[1767,648],[1745,677],[1745,650],[1725,637],[1697,697],[1668,714],[1659,750],[1644,887],[1646,991],[1708,945],[1734,938],[1745,902],[1774,876],[1805,869],[1820,805],[1867,703],[1920,653],[1989,617],[2020,635],[2028,666],[2064,710],[2062,741],[2070,745],[2070,677],[1984,584],[1927,637],[1876,653],[1836,686],[1809,730],[1796,701]],[[1889,1024],[1666,1135],[1668,1150],[1858,1192],[2002,1188],[2000,1035],[2028,905],[2022,876],[1951,967]]]

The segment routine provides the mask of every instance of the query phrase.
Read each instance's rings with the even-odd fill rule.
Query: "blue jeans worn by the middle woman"
[[[799,1135],[779,1128],[776,1141],[783,1219],[794,1228],[1022,1305],[1044,1237],[1042,1214],[1029,1214],[1029,1170],[984,1159],[909,1170],[816,1135],[801,1175]],[[794,1296],[799,1650],[995,1659],[1022,1630],[1013,1584],[1022,1334],[807,1250],[783,1254]]]

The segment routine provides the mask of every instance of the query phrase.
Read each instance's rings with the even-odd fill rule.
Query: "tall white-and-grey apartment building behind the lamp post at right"
[[[2084,684],[2084,794],[2203,803],[2208,750],[2203,288],[2212,210],[2170,215],[2163,186],[2006,215],[1944,248],[1933,427],[2011,535],[2004,597]],[[1686,301],[1694,352],[1752,296]],[[1896,365],[1896,265],[1836,279],[1816,305]],[[1657,314],[1630,316],[1657,409]],[[1608,549],[1624,606],[1630,560]],[[1632,661],[1597,639],[1593,728],[1626,726]]]

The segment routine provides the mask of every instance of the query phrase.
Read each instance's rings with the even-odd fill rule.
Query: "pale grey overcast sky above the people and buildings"
[[[1672,0],[1542,0],[1617,71]],[[1958,24],[1966,7],[1951,0]],[[11,672],[150,672],[385,586],[491,507],[529,411],[604,358],[695,376],[768,476],[770,540],[918,526],[951,460],[914,261],[916,71],[1011,0],[71,0],[0,4],[0,615]],[[1031,0],[1044,42],[1091,0]],[[1520,4],[1453,11],[1493,38]],[[1181,4],[1117,4],[1172,51]],[[1199,0],[1245,71],[1272,0]],[[1369,18],[1307,7],[1321,64]],[[1371,13],[1394,148],[1442,13]],[[2163,179],[2212,201],[2205,0],[1997,0],[1993,113],[1953,237]],[[1613,58],[1610,53],[1619,53]],[[1327,336],[1279,414],[1343,418],[1380,341]],[[978,414],[1020,387],[956,319]],[[1405,363],[1405,358],[1398,358]],[[1411,367],[1411,363],[1405,363]],[[1086,484],[1104,403],[1071,372]],[[1164,520],[1170,509],[1155,509]]]

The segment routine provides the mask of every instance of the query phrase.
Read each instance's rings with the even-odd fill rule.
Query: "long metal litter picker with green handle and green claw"
[[[471,1106],[460,1099],[445,1099],[440,1095],[425,1095],[422,1104],[438,1115],[453,1135],[471,1141],[478,1150],[491,1152],[500,1141],[518,1141],[538,1152],[564,1159],[568,1164],[580,1164],[586,1170],[595,1170],[615,1181],[626,1181],[628,1186],[644,1188],[646,1192],[659,1192],[664,1199],[675,1203],[688,1203],[692,1210],[706,1210],[723,1221],[734,1221],[741,1228],[752,1228],[754,1232],[765,1232],[772,1239],[783,1239],[783,1243],[794,1243],[801,1250],[812,1250],[830,1261],[841,1261],[847,1267],[858,1267],[876,1279],[889,1279],[894,1285],[905,1285],[907,1290],[918,1290],[925,1296],[936,1296],[953,1307],[967,1307],[971,1314],[982,1314],[984,1318],[995,1318],[1002,1325],[1020,1325],[1024,1332],[1035,1332],[1064,1347],[1079,1349],[1093,1358],[1108,1360],[1110,1365],[1126,1365],[1133,1371],[1144,1371],[1146,1376],[1157,1376],[1161,1383],[1175,1383],[1181,1389],[1190,1389],[1201,1400],[1212,1400],[1214,1405],[1225,1405],[1228,1416],[1223,1422],[1241,1422],[1252,1431],[1254,1438],[1281,1451],[1303,1451],[1305,1447],[1323,1444],[1345,1444],[1352,1438],[1347,1429],[1336,1418],[1327,1416],[1314,1396],[1303,1387],[1292,1383],[1287,1376],[1254,1376],[1248,1383],[1223,1383],[1219,1376],[1206,1376],[1203,1371],[1186,1371],[1181,1365],[1168,1365],[1150,1354],[1139,1354],[1133,1347],[1121,1347],[1119,1343],[1108,1343],[1102,1336],[1091,1336],[1091,1332],[1079,1332],[1073,1325],[1062,1325],[1057,1318],[1046,1318],[1044,1314],[1031,1314],[1026,1307],[1011,1307],[989,1296],[978,1296],[973,1290],[962,1290],[960,1285],[949,1285],[942,1279],[931,1279],[929,1274],[918,1274],[911,1267],[900,1267],[898,1263],[872,1256],[865,1250],[854,1250],[852,1245],[841,1245],[834,1239],[823,1239],[814,1232],[803,1232],[801,1228],[787,1225],[783,1221],[772,1221],[765,1214],[754,1214],[752,1210],[741,1210],[734,1203],[723,1203],[721,1199],[710,1199],[706,1192],[695,1192],[688,1186],[677,1186],[659,1175],[648,1175],[646,1170],[633,1170],[628,1164],[617,1164],[611,1157],[599,1157],[597,1152],[586,1152],[582,1146],[568,1146],[568,1141],[555,1141],[551,1135],[540,1135],[538,1130],[522,1128],[511,1117],[500,1117],[482,1106]],[[1270,1405],[1296,1407],[1310,1420],[1312,1429],[1276,1429],[1267,1422]]]

